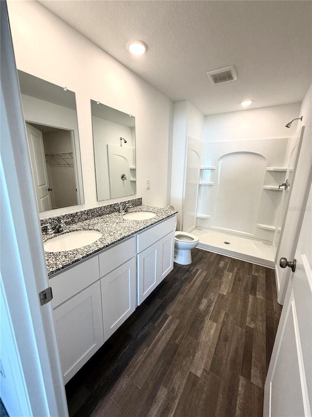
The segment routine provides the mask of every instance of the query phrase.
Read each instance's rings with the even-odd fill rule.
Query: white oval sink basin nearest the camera
[[[62,252],[89,245],[102,236],[103,234],[97,230],[78,230],[56,236],[43,243],[43,247],[45,252]]]

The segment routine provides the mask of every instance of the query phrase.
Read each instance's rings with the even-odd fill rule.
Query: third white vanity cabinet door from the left
[[[137,304],[140,305],[159,283],[159,241],[137,255]]]

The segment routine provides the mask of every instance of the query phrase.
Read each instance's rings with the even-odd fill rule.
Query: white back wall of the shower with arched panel
[[[197,227],[273,241],[288,141],[205,143]]]

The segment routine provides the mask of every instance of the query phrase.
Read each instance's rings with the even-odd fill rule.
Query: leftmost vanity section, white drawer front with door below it
[[[104,343],[98,278],[98,257],[95,257],[50,280],[65,384]]]

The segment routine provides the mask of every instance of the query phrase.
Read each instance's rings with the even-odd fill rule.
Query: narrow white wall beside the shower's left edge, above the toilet
[[[204,115],[191,103],[188,101],[175,103],[170,203],[179,211],[177,214],[177,230],[181,224],[187,136],[202,140],[203,124]]]

